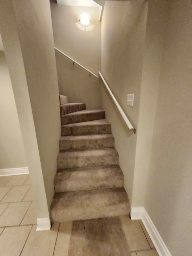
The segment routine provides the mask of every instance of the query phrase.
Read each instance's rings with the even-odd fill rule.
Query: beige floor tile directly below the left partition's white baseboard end
[[[21,256],[52,256],[57,238],[59,224],[55,223],[51,230],[36,231],[37,225],[32,227]]]

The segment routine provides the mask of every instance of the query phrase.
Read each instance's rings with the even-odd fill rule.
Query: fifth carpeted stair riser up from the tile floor
[[[85,134],[110,134],[111,125],[87,125],[87,126],[61,126],[61,136],[85,135]]]

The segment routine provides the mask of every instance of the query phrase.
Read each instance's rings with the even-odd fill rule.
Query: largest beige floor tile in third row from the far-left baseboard
[[[30,202],[10,203],[0,216],[0,227],[19,225],[29,206]]]

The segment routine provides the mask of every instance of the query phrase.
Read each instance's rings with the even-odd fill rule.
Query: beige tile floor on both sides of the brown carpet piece
[[[121,221],[131,256],[158,256],[142,221]],[[36,223],[29,175],[0,177],[0,255],[67,256],[72,222],[38,232]]]

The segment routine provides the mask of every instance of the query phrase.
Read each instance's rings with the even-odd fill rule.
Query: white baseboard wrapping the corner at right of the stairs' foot
[[[143,224],[152,239],[152,242],[159,254],[159,256],[171,256],[170,251],[165,245],[163,239],[161,238],[158,230],[153,224],[149,214],[146,212],[144,207],[132,207],[131,208],[131,219],[138,220],[141,219]]]

